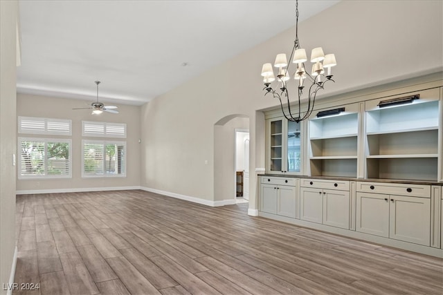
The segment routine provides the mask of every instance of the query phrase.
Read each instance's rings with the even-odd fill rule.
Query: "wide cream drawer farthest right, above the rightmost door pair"
[[[425,184],[357,182],[356,190],[365,193],[386,193],[389,195],[431,198],[431,186]]]

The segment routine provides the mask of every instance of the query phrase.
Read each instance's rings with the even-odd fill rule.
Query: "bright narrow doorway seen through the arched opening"
[[[235,129],[235,197],[249,200],[249,130]]]

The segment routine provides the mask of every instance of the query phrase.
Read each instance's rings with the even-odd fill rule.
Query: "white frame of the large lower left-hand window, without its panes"
[[[60,179],[60,178],[72,178],[72,140],[66,138],[46,138],[46,137],[18,137],[17,139],[18,149],[18,165],[17,165],[17,178],[19,180],[36,180],[36,179]],[[21,143],[22,142],[42,142],[44,143],[44,174],[22,174],[22,154]],[[69,170],[68,174],[54,175],[48,174],[48,142],[60,142],[69,144]]]

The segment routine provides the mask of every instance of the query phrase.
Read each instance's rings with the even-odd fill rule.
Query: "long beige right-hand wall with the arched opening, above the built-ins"
[[[442,1],[341,1],[300,23],[302,47],[323,46],[338,61],[336,84],[319,97],[442,70],[442,10]],[[282,50],[289,55],[294,31],[282,32],[143,106],[143,187],[215,200],[213,125],[242,114],[250,118],[250,209],[257,209],[252,173],[264,167],[260,110],[278,103],[263,97],[260,70]]]

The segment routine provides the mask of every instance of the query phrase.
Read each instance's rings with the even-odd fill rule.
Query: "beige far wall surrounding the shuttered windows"
[[[71,138],[72,140],[72,178],[18,180],[17,192],[29,193],[38,191],[75,191],[79,189],[115,189],[140,186],[140,107],[118,105],[120,113],[102,113],[91,115],[89,110],[72,110],[71,108],[87,107],[89,102],[60,97],[42,97],[37,95],[17,95],[17,116],[49,117],[72,120],[71,137],[46,135],[50,138]],[[17,120],[17,119],[16,119]],[[104,140],[103,137],[82,137],[82,120],[99,122],[116,122],[127,124],[127,176],[125,178],[82,178],[82,139]],[[44,137],[17,134],[17,137]],[[115,138],[122,141],[125,139]]]

